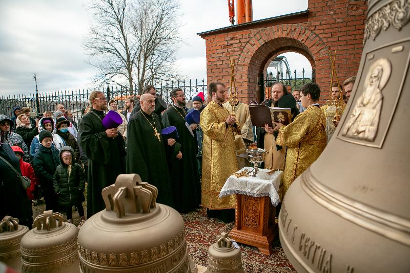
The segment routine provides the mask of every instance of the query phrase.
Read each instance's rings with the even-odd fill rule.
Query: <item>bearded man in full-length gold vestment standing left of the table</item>
[[[212,101],[202,110],[200,126],[202,146],[202,207],[209,210],[235,208],[235,195],[219,198],[226,180],[238,171],[235,134],[237,124],[227,108],[222,106],[227,88],[223,83],[209,85]]]

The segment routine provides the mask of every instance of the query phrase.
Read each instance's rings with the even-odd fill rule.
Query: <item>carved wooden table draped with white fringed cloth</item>
[[[229,236],[237,242],[258,247],[263,254],[271,255],[276,212],[273,203],[276,206],[279,202],[277,190],[283,172],[268,172],[269,170],[260,169],[256,177],[231,175],[220,196],[236,194],[235,227]]]

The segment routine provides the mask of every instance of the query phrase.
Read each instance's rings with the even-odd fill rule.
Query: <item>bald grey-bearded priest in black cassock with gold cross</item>
[[[167,157],[180,158],[180,147],[174,139],[165,140],[160,134],[163,126],[154,113],[154,96],[142,94],[139,103],[140,110],[128,122],[127,173],[137,173],[142,181],[157,187],[157,202],[173,207]]]

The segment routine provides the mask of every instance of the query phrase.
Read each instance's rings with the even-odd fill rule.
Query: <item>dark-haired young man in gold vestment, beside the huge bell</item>
[[[306,109],[288,126],[276,123],[279,130],[276,144],[287,146],[283,176],[283,197],[293,181],[319,157],[326,147],[326,120],[319,108],[320,88],[307,83],[300,89],[300,101]]]

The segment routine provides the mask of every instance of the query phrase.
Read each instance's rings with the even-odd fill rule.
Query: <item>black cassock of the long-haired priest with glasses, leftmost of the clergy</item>
[[[89,158],[87,176],[87,217],[106,208],[101,190],[125,173],[124,138],[108,138],[103,125],[104,112],[92,109],[80,121],[78,139]]]

